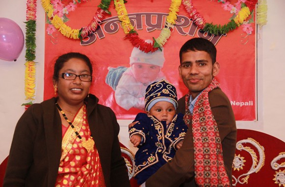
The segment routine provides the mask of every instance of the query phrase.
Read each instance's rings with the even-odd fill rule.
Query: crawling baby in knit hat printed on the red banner
[[[132,107],[143,110],[146,87],[154,81],[165,79],[161,71],[164,62],[163,49],[144,53],[135,47],[130,56],[130,67],[109,67],[105,81],[115,91],[116,103],[125,110]]]

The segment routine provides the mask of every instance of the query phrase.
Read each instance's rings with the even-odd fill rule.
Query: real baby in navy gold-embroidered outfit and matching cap
[[[176,114],[177,94],[173,85],[161,80],[146,88],[145,113],[139,113],[129,129],[135,155],[135,179],[144,183],[172,159],[188,130],[183,114]]]

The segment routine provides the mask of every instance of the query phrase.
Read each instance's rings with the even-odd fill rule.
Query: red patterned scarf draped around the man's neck
[[[186,95],[184,121],[187,125],[192,119],[194,141],[195,180],[198,186],[229,187],[230,182],[225,169],[221,138],[217,123],[209,104],[209,92],[220,84],[214,78],[204,89],[195,103],[193,115],[189,111],[191,92]]]

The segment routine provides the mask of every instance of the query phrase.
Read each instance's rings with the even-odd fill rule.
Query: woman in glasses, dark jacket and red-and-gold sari
[[[57,97],[33,104],[16,125],[4,187],[129,187],[114,112],[89,94],[92,64],[80,53],[54,67]]]

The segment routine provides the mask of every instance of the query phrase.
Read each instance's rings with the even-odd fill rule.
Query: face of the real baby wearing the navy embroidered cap
[[[172,103],[168,101],[158,101],[151,107],[149,114],[155,116],[159,121],[166,121],[166,124],[169,125],[176,111]]]

